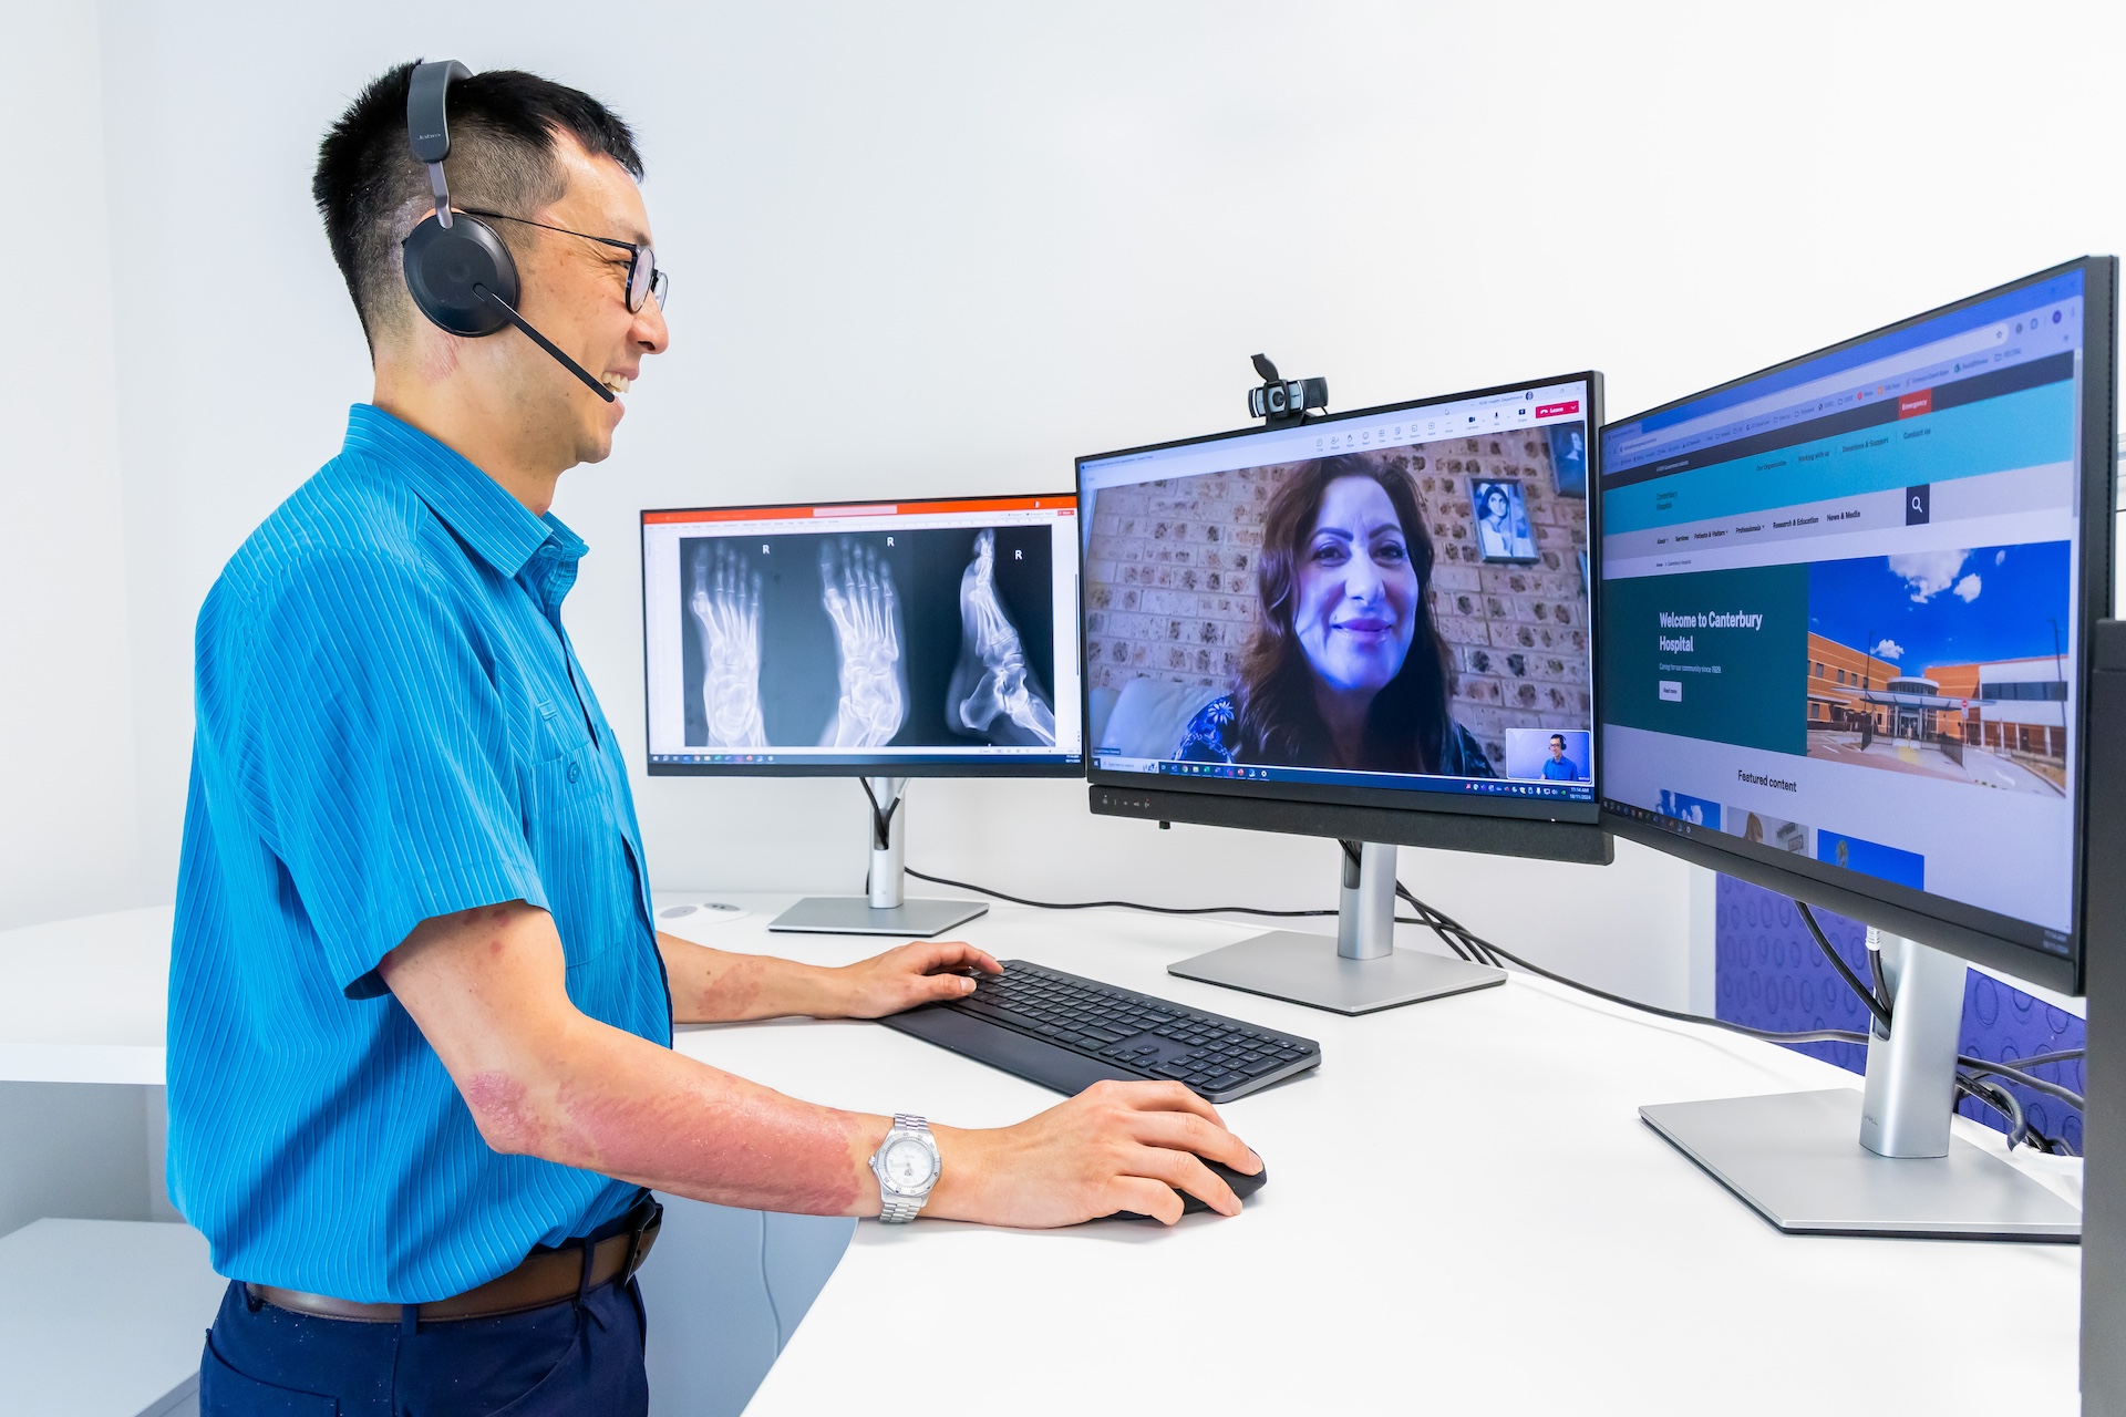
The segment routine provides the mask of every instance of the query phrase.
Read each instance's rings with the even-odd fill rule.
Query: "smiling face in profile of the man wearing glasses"
[[[561,136],[555,159],[568,191],[551,206],[525,212],[532,221],[589,236],[651,244],[642,191],[610,157],[591,157]],[[523,310],[540,334],[614,391],[608,404],[517,331],[478,344],[500,346],[497,374],[517,406],[534,446],[551,448],[561,467],[600,463],[612,453],[612,429],[627,414],[627,387],[642,374],[642,357],[672,342],[655,297],[627,310],[627,251],[583,236],[495,223],[523,276]],[[483,351],[487,353],[487,351]]]

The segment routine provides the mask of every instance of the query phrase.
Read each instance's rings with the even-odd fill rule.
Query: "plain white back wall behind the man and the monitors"
[[[1239,423],[1259,348],[1327,374],[1339,408],[1599,365],[1631,412],[2122,232],[2117,6],[100,15],[125,533],[106,618],[130,620],[132,680],[128,703],[104,648],[108,686],[81,699],[130,707],[147,894],[179,841],[191,616],[368,389],[306,185],[325,123],[400,57],[534,68],[642,134],[674,351],[557,506],[593,544],[572,631],[636,756],[638,508],[1063,486],[1076,453]],[[100,382],[66,397],[104,399],[74,416],[108,427]],[[32,659],[36,682],[85,682],[60,646]],[[70,756],[66,784],[117,771]],[[659,884],[863,871],[850,784],[636,788]],[[910,809],[916,865],[1025,892],[1331,899],[1324,843],[1093,820],[1082,786],[921,784]],[[81,822],[47,837],[53,863],[98,850]],[[1607,871],[1424,854],[1405,880],[1509,947],[1692,992],[1688,871],[1650,852]],[[30,890],[0,877],[0,914],[94,901]]]

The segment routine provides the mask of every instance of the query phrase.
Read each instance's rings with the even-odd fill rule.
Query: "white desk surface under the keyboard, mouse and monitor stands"
[[[780,899],[746,903],[687,933],[821,962],[876,947],[770,937]],[[927,1413],[2075,1411],[2077,1249],[1784,1236],[1637,1117],[1854,1075],[1529,977],[1346,1020],[1165,973],[1256,928],[999,905],[959,931],[1320,1039],[1324,1062],[1222,1109],[1271,1177],[1237,1219],[857,1226],[746,1411],[850,1411],[887,1385]],[[870,1024],[689,1028],[678,1047],[876,1113],[982,1126],[1057,1100]],[[2077,1192],[2075,1162],[2026,1156]],[[1290,1309],[1233,1317],[1250,1294]]]

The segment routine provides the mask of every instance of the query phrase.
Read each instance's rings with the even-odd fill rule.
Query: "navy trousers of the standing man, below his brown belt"
[[[357,1324],[221,1298],[200,1417],[646,1417],[634,1279],[497,1319]]]

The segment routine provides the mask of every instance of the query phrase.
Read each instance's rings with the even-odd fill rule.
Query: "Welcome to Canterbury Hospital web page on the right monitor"
[[[1607,429],[1607,805],[2064,947],[2079,385],[2073,274]]]

